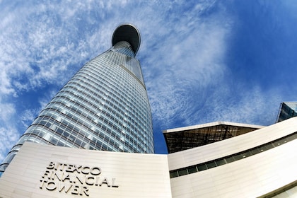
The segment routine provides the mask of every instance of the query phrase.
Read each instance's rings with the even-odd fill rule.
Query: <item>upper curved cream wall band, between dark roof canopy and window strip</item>
[[[233,153],[245,151],[255,146],[266,144],[288,134],[297,132],[297,117],[272,124],[268,127],[235,136],[213,144],[191,148],[168,155],[169,170],[184,168],[185,166],[204,163]]]

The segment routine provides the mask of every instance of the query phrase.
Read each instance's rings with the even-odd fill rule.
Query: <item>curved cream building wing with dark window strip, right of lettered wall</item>
[[[236,125],[216,123],[220,124]],[[170,130],[183,133],[189,128],[211,129],[214,125]],[[297,117],[293,117],[229,139],[170,153],[172,196],[297,197],[296,138]]]

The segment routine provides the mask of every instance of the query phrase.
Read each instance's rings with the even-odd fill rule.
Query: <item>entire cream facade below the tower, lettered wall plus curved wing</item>
[[[189,128],[195,127],[202,126]],[[296,139],[297,117],[292,117],[168,155],[26,142],[0,177],[0,197],[293,198]]]

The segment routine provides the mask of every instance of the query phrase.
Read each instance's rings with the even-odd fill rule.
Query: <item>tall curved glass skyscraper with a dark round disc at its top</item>
[[[112,47],[87,62],[52,98],[13,146],[25,141],[91,150],[153,153],[151,107],[139,60],[139,31],[120,25]]]

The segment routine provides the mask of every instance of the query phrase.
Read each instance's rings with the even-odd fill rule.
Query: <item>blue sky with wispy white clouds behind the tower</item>
[[[164,129],[269,125],[297,100],[297,1],[0,0],[0,18],[0,161],[121,23],[141,32],[156,153]]]

